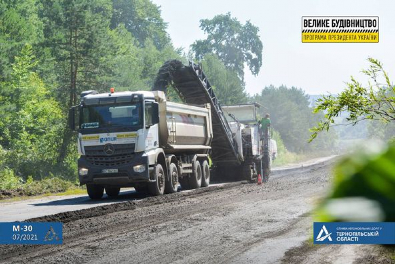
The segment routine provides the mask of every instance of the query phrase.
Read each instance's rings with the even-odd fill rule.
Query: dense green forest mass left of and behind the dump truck
[[[147,90],[180,57],[150,0],[4,0],[0,42],[0,177],[15,182],[75,181],[66,113],[79,93]]]

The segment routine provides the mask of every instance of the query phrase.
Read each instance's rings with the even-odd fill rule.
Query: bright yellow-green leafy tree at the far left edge
[[[18,175],[44,176],[56,164],[64,116],[37,73],[38,61],[26,44],[15,57],[10,78],[0,83],[1,105],[12,108],[0,121],[5,160]]]

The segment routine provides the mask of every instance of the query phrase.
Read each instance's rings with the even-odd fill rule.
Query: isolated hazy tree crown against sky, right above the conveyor
[[[263,44],[258,36],[258,27],[250,21],[243,25],[227,13],[200,20],[200,28],[207,34],[207,39],[191,45],[197,59],[202,59],[207,53],[215,53],[241,80],[244,80],[244,63],[253,75],[259,73]]]

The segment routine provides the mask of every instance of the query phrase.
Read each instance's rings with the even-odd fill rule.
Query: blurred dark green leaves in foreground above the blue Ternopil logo
[[[335,166],[318,221],[395,221],[395,144],[368,143]]]

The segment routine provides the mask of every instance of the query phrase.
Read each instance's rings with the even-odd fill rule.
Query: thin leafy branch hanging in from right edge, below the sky
[[[316,138],[321,131],[342,125],[337,124],[335,119],[345,111],[349,113],[346,118],[348,124],[355,125],[362,120],[378,120],[384,123],[395,120],[395,87],[381,62],[373,58],[368,61],[369,68],[362,70],[371,80],[366,87],[351,77],[351,82],[347,83],[347,88],[340,94],[318,99],[314,112],[324,112],[325,115],[311,130],[313,133],[310,140]]]

